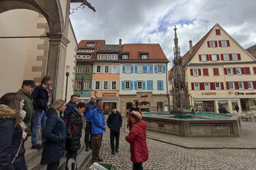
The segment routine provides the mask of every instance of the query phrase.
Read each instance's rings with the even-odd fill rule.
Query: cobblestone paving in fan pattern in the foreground
[[[109,129],[104,133],[100,157],[117,169],[132,169],[127,133],[120,134],[119,152],[111,154]],[[147,139],[149,160],[143,169],[256,169],[256,150],[195,150]],[[89,169],[90,159],[82,169]]]

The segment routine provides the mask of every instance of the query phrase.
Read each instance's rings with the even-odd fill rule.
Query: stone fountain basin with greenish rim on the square
[[[191,118],[175,118],[165,112],[144,114],[147,130],[184,137],[239,137],[236,115],[196,113]]]

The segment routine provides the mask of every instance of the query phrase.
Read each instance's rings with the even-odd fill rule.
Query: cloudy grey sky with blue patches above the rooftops
[[[105,39],[106,44],[160,44],[173,60],[174,31],[177,27],[181,56],[216,23],[243,48],[256,44],[255,0],[87,0],[88,7],[70,15],[77,41]],[[81,3],[72,3],[71,8]],[[72,12],[72,10],[70,10]],[[206,22],[205,22],[206,21]],[[206,23],[206,25],[205,25]]]

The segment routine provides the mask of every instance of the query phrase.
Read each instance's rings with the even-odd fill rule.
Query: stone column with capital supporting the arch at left
[[[53,80],[54,100],[64,99],[63,90],[66,68],[66,48],[70,40],[62,33],[47,33],[49,38],[46,75]]]

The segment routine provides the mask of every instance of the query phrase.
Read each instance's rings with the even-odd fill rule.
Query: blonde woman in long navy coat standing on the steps
[[[58,99],[46,113],[46,124],[42,137],[46,139],[42,151],[41,165],[47,164],[47,170],[59,167],[59,160],[65,153],[66,123],[61,114],[66,109],[66,102]]]

